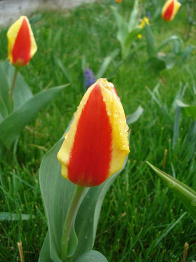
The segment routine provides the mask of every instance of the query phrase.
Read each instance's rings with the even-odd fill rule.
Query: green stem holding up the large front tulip
[[[72,228],[72,222],[73,222],[74,215],[77,211],[78,204],[80,202],[80,199],[82,197],[84,190],[85,190],[85,187],[77,186],[77,188],[74,192],[74,195],[72,197],[70,207],[69,207],[68,212],[67,212],[67,216],[66,216],[65,223],[64,223],[64,226],[63,226],[63,235],[62,235],[62,238],[61,238],[60,257],[61,257],[61,260],[63,262],[67,261],[68,242],[69,242],[69,237],[70,237],[70,231],[71,231],[71,228]]]

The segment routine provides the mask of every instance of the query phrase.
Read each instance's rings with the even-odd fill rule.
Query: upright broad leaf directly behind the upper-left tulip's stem
[[[2,67],[4,69],[7,82],[9,84],[9,89],[11,89],[11,84],[13,80],[15,67],[11,65],[8,61],[2,62]],[[13,92],[13,107],[12,111],[17,110],[22,104],[28,101],[33,96],[31,89],[28,84],[23,79],[20,72],[17,73],[15,87]]]

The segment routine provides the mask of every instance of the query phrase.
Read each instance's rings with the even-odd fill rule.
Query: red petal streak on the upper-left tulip
[[[30,60],[30,50],[31,50],[31,39],[28,24],[24,18],[18,34],[16,36],[13,49],[12,49],[12,61],[13,64],[17,63],[17,60],[22,61],[22,65],[26,65]]]

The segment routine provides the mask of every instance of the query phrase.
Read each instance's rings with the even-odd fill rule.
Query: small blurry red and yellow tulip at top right
[[[177,0],[167,0],[162,8],[161,17],[166,21],[172,21],[181,7]]]

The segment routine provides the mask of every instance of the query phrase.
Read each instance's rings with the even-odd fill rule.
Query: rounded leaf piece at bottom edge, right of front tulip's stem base
[[[100,252],[91,250],[82,254],[76,262],[107,262],[107,260]]]

